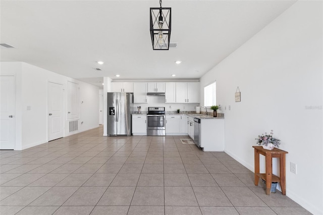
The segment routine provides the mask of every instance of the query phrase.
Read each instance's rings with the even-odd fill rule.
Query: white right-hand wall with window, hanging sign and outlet
[[[298,1],[200,79],[201,98],[217,80],[227,106],[225,151],[253,171],[254,138],[273,129],[289,152],[287,195],[314,214],[323,214],[322,18],[322,2]]]

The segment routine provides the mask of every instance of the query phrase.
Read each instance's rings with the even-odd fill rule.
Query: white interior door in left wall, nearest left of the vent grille
[[[48,141],[63,137],[63,85],[48,82]]]

